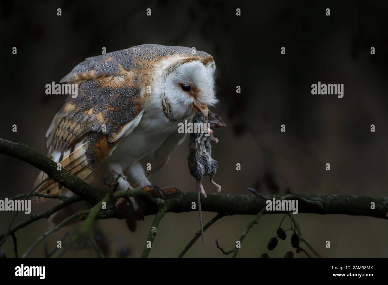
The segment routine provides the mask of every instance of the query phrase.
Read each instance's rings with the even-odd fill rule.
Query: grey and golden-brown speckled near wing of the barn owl
[[[69,95],[55,115],[47,130],[47,147],[55,162],[81,179],[112,153],[121,137],[137,127],[144,112],[140,90],[128,71],[115,62],[106,55],[88,58],[61,81],[78,84],[78,96]],[[40,173],[36,183],[46,177]],[[65,190],[49,180],[37,192]]]

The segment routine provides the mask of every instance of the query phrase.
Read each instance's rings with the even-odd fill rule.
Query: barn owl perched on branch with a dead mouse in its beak
[[[178,123],[208,115],[217,103],[214,72],[211,55],[181,46],[140,45],[86,58],[61,80],[78,84],[78,96],[69,96],[52,120],[48,156],[81,179],[108,163],[132,187],[150,185],[140,161],[151,163],[149,174],[158,171],[184,139]],[[37,183],[46,177],[41,172]],[[66,191],[50,180],[37,190]]]

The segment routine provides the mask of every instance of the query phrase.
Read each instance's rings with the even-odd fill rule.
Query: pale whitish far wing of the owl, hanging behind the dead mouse
[[[151,171],[146,171],[147,177],[157,173],[170,159],[170,153],[176,146],[185,141],[187,134],[174,132],[159,146],[156,151],[146,156],[142,160],[142,164],[151,163]]]

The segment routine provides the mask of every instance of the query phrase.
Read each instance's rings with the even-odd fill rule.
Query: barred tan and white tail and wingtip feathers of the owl
[[[92,168],[90,167],[86,156],[87,147],[87,143],[77,144],[74,147],[74,150],[69,149],[66,151],[62,151],[62,153],[53,153],[51,155],[51,158],[56,163],[61,163],[61,167],[65,168],[66,170],[75,174],[81,179],[84,179],[92,172]],[[71,152],[71,150],[73,151]],[[35,185],[37,185],[47,177],[48,175],[46,173],[40,172],[38,178],[36,179]],[[47,182],[40,185],[40,187],[36,189],[35,192],[42,194],[65,194],[66,191],[67,189],[59,183],[54,182],[52,180],[48,180]],[[36,196],[33,197],[34,202],[42,202],[45,200],[47,200],[47,198]]]

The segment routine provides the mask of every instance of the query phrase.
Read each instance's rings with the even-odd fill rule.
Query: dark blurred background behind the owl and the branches
[[[298,194],[387,196],[388,2],[386,1],[29,1],[0,4],[0,137],[21,141],[46,153],[45,132],[64,102],[46,95],[45,85],[59,80],[86,57],[143,43],[196,47],[213,55],[217,96],[213,111],[226,129],[217,130],[213,147],[219,162],[215,181],[224,194],[263,194],[290,187]],[[57,9],[62,16],[57,16]],[[146,16],[151,8],[152,15]],[[236,16],[236,8],[241,16]],[[326,16],[326,8],[331,15]],[[12,47],[17,55],[12,55]],[[281,47],[286,55],[281,55]],[[376,54],[370,54],[370,48]],[[311,84],[344,84],[344,97],[312,95]],[[241,93],[236,94],[236,86]],[[17,132],[12,132],[12,125]],[[280,132],[280,125],[286,132]],[[376,132],[370,132],[370,125]],[[151,180],[194,191],[187,168],[187,143]],[[241,171],[236,171],[241,163]],[[325,164],[331,164],[331,171]],[[28,192],[38,170],[0,156],[0,199]],[[88,182],[99,184],[98,171]],[[208,182],[208,192],[215,191]],[[54,202],[33,206],[37,213]],[[204,213],[204,221],[215,213]],[[0,231],[11,216],[0,213]],[[16,222],[24,220],[19,215]],[[252,216],[228,216],[205,233],[186,257],[224,257],[215,247],[232,249]],[[263,216],[244,240],[239,257],[268,252],[282,215]],[[299,214],[303,234],[325,257],[387,257],[386,220],[364,216]],[[123,220],[98,222],[109,244],[108,256],[128,249],[139,257],[153,217],[128,231]],[[198,230],[196,212],[166,214],[150,257],[176,257]],[[287,221],[287,224],[289,222]],[[46,229],[40,220],[16,232],[23,253]],[[68,230],[48,239],[50,249]],[[331,248],[325,248],[330,240]],[[12,239],[2,247],[13,256]],[[282,257],[289,239],[270,252]],[[43,244],[30,255],[43,257]],[[68,256],[95,256],[91,250]],[[298,257],[305,257],[303,254]]]

